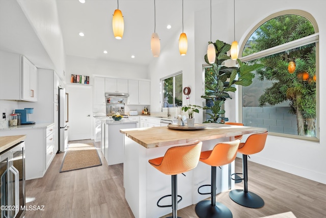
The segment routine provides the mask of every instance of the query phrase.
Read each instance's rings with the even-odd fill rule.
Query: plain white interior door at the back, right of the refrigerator
[[[91,139],[93,87],[67,85],[69,92],[69,140]]]

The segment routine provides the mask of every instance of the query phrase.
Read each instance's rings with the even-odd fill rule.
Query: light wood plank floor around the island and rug
[[[89,141],[70,143],[74,142]],[[25,217],[134,217],[124,198],[123,165],[107,166],[100,151],[99,154],[101,166],[65,173],[59,173],[64,154],[57,154],[43,178],[26,181],[26,205],[44,205],[44,210],[26,211]],[[241,159],[237,158],[236,172],[241,172],[241,164]],[[326,217],[325,184],[253,162],[248,166],[248,190],[262,197],[265,206],[259,209],[242,207],[229,198],[228,191],[220,193],[216,202],[225,204],[233,217],[255,218],[288,211],[298,218]],[[242,189],[243,183],[236,184],[236,188]],[[195,205],[178,210],[178,215],[197,217]]]

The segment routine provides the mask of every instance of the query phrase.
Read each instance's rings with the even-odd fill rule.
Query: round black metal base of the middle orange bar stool
[[[198,202],[195,207],[195,211],[200,218],[233,217],[231,210],[219,202],[216,202],[215,206],[211,205],[211,201]]]

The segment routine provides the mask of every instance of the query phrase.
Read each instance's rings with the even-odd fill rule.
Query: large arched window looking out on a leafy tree
[[[242,62],[261,63],[242,87],[242,123],[270,133],[318,140],[318,27],[304,11],[271,15],[253,29]]]

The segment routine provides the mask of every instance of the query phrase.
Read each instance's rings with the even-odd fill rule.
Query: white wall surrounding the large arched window
[[[216,7],[218,7],[216,9]],[[212,5],[212,41],[220,39],[231,44],[233,41],[233,2],[219,2]],[[326,19],[324,8],[326,1],[312,0],[247,0],[235,1],[235,38],[239,44],[243,43],[244,37],[262,19],[278,11],[298,9],[304,10],[313,15],[319,27],[319,60],[326,58],[326,27],[323,25]],[[160,108],[159,99],[159,78],[183,71],[183,86],[192,88],[191,104],[202,104],[200,96],[203,94],[202,64],[205,63],[204,55],[207,52],[209,41],[209,6],[205,11],[198,11],[194,17],[185,21],[185,32],[192,29],[194,25],[194,37],[188,37],[188,51],[186,56],[180,57],[178,52],[177,39],[172,39],[168,47],[161,50],[161,55],[151,63],[152,99],[151,107]],[[186,32],[187,33],[187,32]],[[187,33],[188,36],[188,33]],[[176,36],[178,37],[178,36]],[[194,41],[192,41],[194,40]],[[195,46],[195,54],[192,46]],[[194,68],[195,67],[195,68]],[[320,63],[319,72],[324,72],[325,66]],[[326,75],[320,73],[318,81],[326,81]],[[319,93],[325,93],[326,87],[319,87]],[[154,98],[154,96],[156,96]],[[237,96],[227,100],[226,110],[232,121],[238,121]],[[321,95],[322,96],[322,95]],[[195,101],[194,101],[195,100]],[[185,101],[184,101],[185,102]],[[326,110],[326,100],[319,98],[319,111]],[[196,122],[201,119],[201,114],[196,114]],[[320,113],[320,133],[325,132],[326,117]],[[324,167],[326,154],[326,136],[320,134],[320,142],[291,139],[268,135],[265,148],[262,152],[252,155],[251,161],[271,166],[282,171],[302,176],[326,184],[326,168]]]

